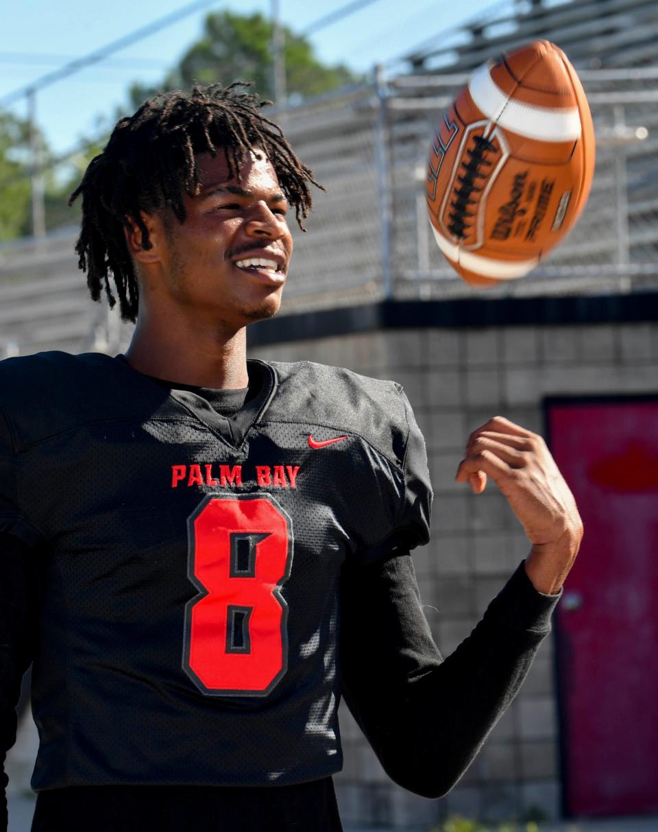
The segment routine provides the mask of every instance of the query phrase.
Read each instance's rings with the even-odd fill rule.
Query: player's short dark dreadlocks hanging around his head
[[[313,171],[295,156],[280,127],[261,113],[258,96],[235,82],[211,84],[192,92],[167,92],[142,104],[134,116],[116,123],[105,150],[87,167],[69,205],[82,194],[82,229],[77,240],[78,265],[87,271],[93,300],[101,290],[110,306],[119,296],[121,318],[136,320],[139,291],[124,227],[133,220],[141,245],[151,248],[141,211],[171,209],[179,222],[186,219],[183,195],[200,191],[195,156],[224,152],[231,177],[252,148],[265,153],[275,169],[286,199],[294,206],[299,227],[313,207],[309,183],[319,186]]]

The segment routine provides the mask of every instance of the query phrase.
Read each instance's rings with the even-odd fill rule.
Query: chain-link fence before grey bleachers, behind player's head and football
[[[487,296],[628,291],[658,283],[658,69],[581,72],[596,174],[576,229],[522,280]],[[402,76],[280,114],[326,191],[295,252],[283,313],[385,297],[470,295],[435,245],[424,200],[428,143],[466,76]],[[0,247],[0,354],[115,349],[127,330],[89,305],[75,230]],[[118,339],[118,343],[117,343]]]

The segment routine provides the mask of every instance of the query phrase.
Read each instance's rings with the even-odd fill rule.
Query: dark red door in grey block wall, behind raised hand
[[[658,811],[658,401],[547,402],[585,523],[557,611],[566,815]]]

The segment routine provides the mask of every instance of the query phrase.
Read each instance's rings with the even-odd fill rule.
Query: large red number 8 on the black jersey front
[[[288,665],[292,523],[270,494],[210,495],[188,521],[183,669],[205,694],[266,696]]]

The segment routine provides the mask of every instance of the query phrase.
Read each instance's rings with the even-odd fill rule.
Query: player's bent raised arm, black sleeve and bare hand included
[[[458,482],[500,488],[532,544],[471,635],[443,661],[408,553],[358,569],[342,587],[345,699],[393,780],[426,797],[463,775],[516,695],[582,537],[576,503],[546,443],[495,417],[468,438]]]

